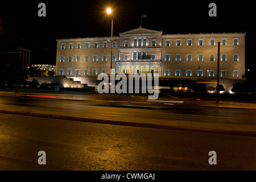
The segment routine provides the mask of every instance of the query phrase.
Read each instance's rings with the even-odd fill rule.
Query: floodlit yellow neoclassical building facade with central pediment
[[[57,39],[56,76],[152,73],[162,77],[241,78],[245,72],[245,33],[163,34],[136,28],[110,37]]]

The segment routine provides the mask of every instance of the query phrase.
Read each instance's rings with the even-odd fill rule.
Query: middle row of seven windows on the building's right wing
[[[198,61],[203,61],[204,60],[203,53],[199,53],[197,55],[198,55],[197,56]],[[171,60],[170,53],[166,53],[164,55],[164,61],[170,61],[170,60]],[[215,60],[215,55],[210,54],[209,55],[209,60],[214,61]],[[220,60],[221,61],[226,61],[227,60],[226,53],[222,53],[220,55]],[[181,61],[181,54],[180,53],[176,53],[175,61]],[[192,61],[192,53],[187,53],[187,61]],[[233,61],[238,61],[238,53],[233,53]]]

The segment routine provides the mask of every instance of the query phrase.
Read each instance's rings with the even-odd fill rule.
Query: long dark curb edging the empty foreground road
[[[52,115],[52,114],[37,114],[37,113],[7,111],[7,110],[0,110],[0,113],[23,115],[28,117],[48,118],[48,119],[60,119],[65,121],[100,123],[100,124],[106,124],[106,125],[121,125],[121,126],[144,127],[144,128],[151,128],[151,129],[164,129],[164,130],[175,130],[175,131],[188,131],[188,132],[199,132],[199,133],[242,135],[242,136],[256,137],[256,131],[210,129],[210,128],[174,126],[174,125],[157,125],[152,123],[115,121],[115,120],[108,120],[108,119],[82,118],[82,117],[71,117],[71,116],[65,116],[65,115]]]

